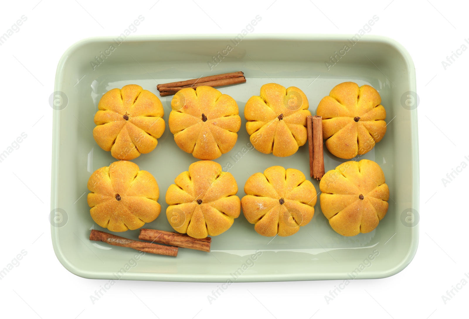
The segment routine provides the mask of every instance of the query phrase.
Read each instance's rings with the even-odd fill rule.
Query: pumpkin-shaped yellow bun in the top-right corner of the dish
[[[386,110],[369,85],[336,85],[318,105],[325,146],[333,155],[350,159],[370,151],[386,134]]]

